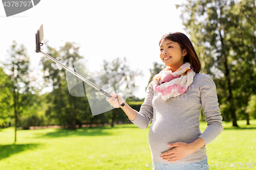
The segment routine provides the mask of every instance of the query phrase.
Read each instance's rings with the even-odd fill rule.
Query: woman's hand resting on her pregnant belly
[[[168,162],[174,162],[185,158],[187,155],[194,153],[194,147],[191,143],[175,142],[167,145],[169,148],[173,148],[169,151],[163,152],[161,157]]]

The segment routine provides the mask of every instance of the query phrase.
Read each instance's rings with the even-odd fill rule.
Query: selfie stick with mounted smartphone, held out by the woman
[[[73,74],[74,76],[78,77],[79,79],[81,79],[82,81],[86,82],[87,84],[89,84],[90,86],[92,86],[93,88],[95,88],[95,90],[101,92],[102,94],[104,94],[105,96],[111,98],[112,96],[110,95],[110,93],[102,90],[101,88],[99,88],[97,85],[93,84],[92,82],[90,82],[89,80],[87,80],[86,78],[82,77],[81,75],[79,75],[77,72],[71,70],[69,67],[61,64],[60,62],[58,62],[56,59],[52,58],[51,56],[49,56],[48,54],[42,52],[40,50],[40,47],[43,45],[43,43],[41,43],[42,39],[44,38],[44,33],[42,30],[42,25],[39,28],[39,30],[37,30],[37,33],[35,34],[35,40],[36,40],[36,53],[41,53],[43,55],[45,55],[46,57],[48,57],[49,59],[51,59],[53,62],[55,62],[56,64],[60,65],[62,68],[68,70],[69,72],[71,72],[71,74]],[[124,107],[124,103],[121,104],[122,107]]]

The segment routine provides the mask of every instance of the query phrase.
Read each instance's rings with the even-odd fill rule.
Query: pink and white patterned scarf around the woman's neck
[[[154,76],[153,85],[156,91],[161,92],[161,98],[166,101],[169,98],[183,94],[188,86],[193,83],[196,72],[190,63],[185,63],[175,72],[166,67],[159,74]],[[161,85],[157,85],[158,80]]]

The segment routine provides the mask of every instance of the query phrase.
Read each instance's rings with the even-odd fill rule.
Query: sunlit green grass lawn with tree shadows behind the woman
[[[241,128],[233,128],[231,123],[223,123],[224,131],[206,146],[208,164],[212,167],[216,164],[209,169],[256,169],[255,164],[253,168],[253,165],[244,168],[245,163],[256,162],[256,120],[250,124],[240,120]],[[202,132],[206,127],[206,123],[201,122]],[[18,130],[17,142],[13,145],[14,129],[0,129],[0,170],[152,169],[147,167],[152,163],[148,130],[133,124],[76,131]]]

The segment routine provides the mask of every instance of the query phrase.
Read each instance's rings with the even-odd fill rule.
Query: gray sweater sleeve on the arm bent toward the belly
[[[207,128],[199,136],[204,139],[205,145],[214,140],[222,131],[222,116],[219,108],[216,85],[208,75],[203,77],[200,87],[203,114],[206,116]]]

